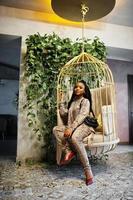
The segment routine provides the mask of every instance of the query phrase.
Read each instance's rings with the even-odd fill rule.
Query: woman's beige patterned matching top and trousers
[[[82,123],[85,117],[89,115],[89,110],[90,102],[84,97],[75,99],[72,102],[69,110],[65,109],[64,104],[60,105],[60,115],[62,117],[68,115],[68,123],[67,126],[56,126],[53,129],[53,133],[57,140],[56,159],[58,164],[60,163],[63,149],[67,150],[70,142],[78,153],[83,167],[90,168],[83,139],[92,132],[94,133],[94,129]],[[69,142],[64,137],[64,130],[66,128],[70,128],[73,131]]]

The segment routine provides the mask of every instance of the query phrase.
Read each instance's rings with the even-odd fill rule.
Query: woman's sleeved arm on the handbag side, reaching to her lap
[[[68,128],[74,131],[80,124],[82,124],[84,119],[89,115],[89,112],[90,112],[90,102],[88,99],[84,99],[81,102],[81,108],[79,114],[77,115],[72,125]]]

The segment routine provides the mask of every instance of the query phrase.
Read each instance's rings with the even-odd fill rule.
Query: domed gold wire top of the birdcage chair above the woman
[[[108,65],[86,52],[82,52],[67,62],[60,71],[59,79],[71,79],[70,82],[73,84],[83,79],[90,89],[114,82]]]

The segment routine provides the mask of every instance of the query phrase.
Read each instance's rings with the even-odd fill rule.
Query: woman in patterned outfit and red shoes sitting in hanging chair
[[[86,82],[81,80],[73,89],[72,97],[68,103],[68,109],[64,108],[64,104],[60,105],[60,115],[68,115],[67,126],[56,126],[53,129],[57,140],[57,163],[59,165],[68,164],[77,153],[84,168],[86,185],[93,183],[93,174],[83,139],[95,132],[92,127],[85,125],[83,121],[91,110],[91,93]],[[74,148],[71,148],[72,146]],[[61,152],[59,149],[64,149],[65,151],[65,157],[61,161]]]

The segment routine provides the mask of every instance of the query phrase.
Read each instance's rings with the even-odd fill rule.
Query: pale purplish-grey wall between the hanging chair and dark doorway
[[[121,142],[129,141],[127,75],[133,74],[133,62],[108,60],[116,84],[118,135]]]

